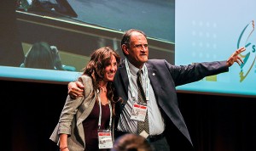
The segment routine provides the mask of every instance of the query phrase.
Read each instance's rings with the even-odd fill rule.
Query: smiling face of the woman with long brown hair
[[[105,67],[104,81],[113,81],[113,76],[117,70],[117,62],[115,57],[111,56],[110,64]]]

